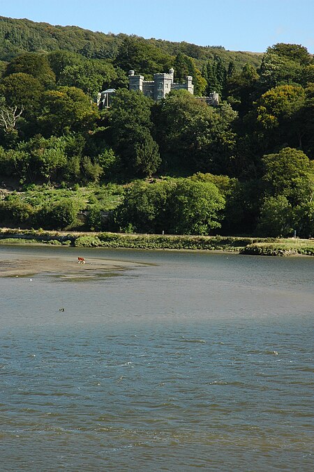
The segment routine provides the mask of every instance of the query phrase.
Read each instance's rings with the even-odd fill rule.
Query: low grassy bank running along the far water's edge
[[[1,229],[0,243],[44,243],[77,248],[129,248],[169,250],[222,250],[240,254],[287,256],[314,255],[314,241],[306,239],[248,238],[234,236],[170,236],[158,234],[80,233]]]

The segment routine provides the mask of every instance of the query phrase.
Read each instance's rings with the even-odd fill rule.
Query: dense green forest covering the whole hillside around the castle
[[[4,17],[0,39],[2,227],[80,228],[84,212],[92,230],[314,234],[306,47],[260,55]],[[196,96],[218,92],[218,107],[128,91],[128,70],[171,67]]]

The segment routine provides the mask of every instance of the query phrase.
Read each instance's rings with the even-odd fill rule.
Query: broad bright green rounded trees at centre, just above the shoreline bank
[[[121,229],[136,232],[209,234],[220,227],[225,200],[213,183],[172,179],[156,183],[138,181],[126,191],[115,212]]]

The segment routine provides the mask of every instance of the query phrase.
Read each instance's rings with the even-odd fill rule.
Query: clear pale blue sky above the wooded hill
[[[236,51],[297,43],[314,53],[314,0],[0,0],[0,15]]]

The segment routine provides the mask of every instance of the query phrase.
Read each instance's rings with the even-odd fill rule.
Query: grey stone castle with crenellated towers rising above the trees
[[[184,84],[174,83],[174,70],[170,69],[167,74],[154,74],[154,80],[144,80],[144,75],[135,75],[134,70],[130,70],[128,84],[130,90],[140,90],[145,96],[153,100],[165,98],[172,90],[185,89],[194,93],[193,77],[188,75]]]

